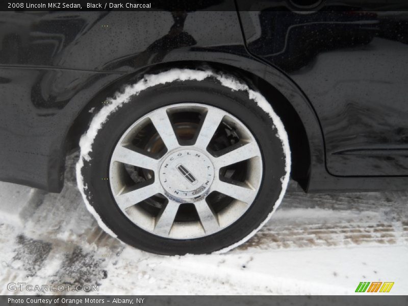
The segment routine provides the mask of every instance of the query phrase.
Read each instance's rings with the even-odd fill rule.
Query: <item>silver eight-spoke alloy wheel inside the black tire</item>
[[[219,139],[223,146],[214,150]],[[247,127],[219,108],[193,103],[137,120],[117,142],[109,167],[123,214],[172,239],[208,236],[234,223],[256,198],[262,175],[261,150]]]

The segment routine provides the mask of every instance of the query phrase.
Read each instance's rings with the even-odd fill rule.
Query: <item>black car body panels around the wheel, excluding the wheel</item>
[[[268,98],[305,190],[406,189],[408,13],[400,3],[0,12],[0,180],[59,192],[65,156],[107,96],[145,73],[209,66]]]

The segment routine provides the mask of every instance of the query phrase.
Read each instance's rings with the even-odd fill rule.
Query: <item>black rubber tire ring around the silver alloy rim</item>
[[[231,113],[246,124],[256,137],[263,155],[263,179],[256,199],[232,225],[210,236],[196,239],[169,239],[144,231],[118,208],[111,193],[109,164],[112,150],[121,135],[141,116],[157,108],[193,102],[214,106]],[[269,114],[248,97],[246,91],[233,91],[214,78],[203,81],[174,81],[160,84],[131,96],[112,112],[98,131],[80,174],[87,201],[103,223],[123,242],[159,254],[210,253],[250,237],[268,219],[283,191],[282,178],[288,175],[282,140]],[[281,196],[282,199],[282,196]]]

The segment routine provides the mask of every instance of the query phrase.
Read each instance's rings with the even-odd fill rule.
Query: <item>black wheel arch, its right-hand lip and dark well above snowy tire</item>
[[[84,107],[67,130],[64,139],[67,146],[61,152],[63,155],[61,159],[65,159],[70,149],[78,147],[79,139],[87,130],[93,114],[103,107],[102,102],[107,97],[113,96],[122,86],[137,82],[145,74],[158,73],[171,68],[212,68],[232,74],[253,89],[259,90],[281,117],[288,132],[292,151],[291,175],[304,190],[308,189],[313,167],[324,167],[324,144],[318,118],[307,97],[284,73],[251,59],[242,59],[238,63],[210,60],[170,61],[144,67],[118,78],[116,82],[102,88],[84,103]],[[90,112],[92,109],[93,112]]]

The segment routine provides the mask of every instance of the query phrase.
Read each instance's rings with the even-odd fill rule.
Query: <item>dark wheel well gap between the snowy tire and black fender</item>
[[[227,74],[232,74],[235,77],[243,80],[251,88],[260,91],[268,102],[271,104],[275,113],[281,118],[289,137],[289,145],[291,148],[292,158],[292,179],[297,181],[299,185],[305,190],[309,181],[311,155],[309,141],[304,129],[303,123],[297,114],[296,110],[290,104],[290,101],[275,87],[269,84],[262,78],[242,69],[219,64],[219,63],[200,63],[200,62],[178,62],[165,63],[147,67],[136,73],[126,75],[114,84],[100,91],[92,100],[84,107],[79,116],[72,123],[68,134],[67,143],[68,151],[78,148],[79,139],[82,134],[88,129],[88,125],[92,119],[93,114],[103,107],[102,101],[107,97],[113,96],[118,89],[126,84],[136,83],[143,75],[149,73],[159,73],[171,68],[212,68],[216,71],[222,71]],[[91,112],[91,110],[94,110]]]

